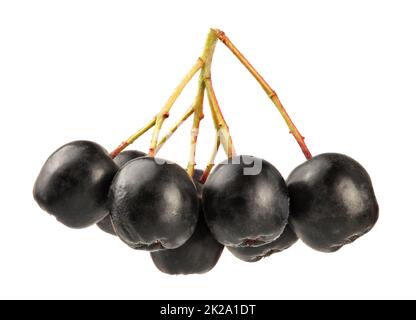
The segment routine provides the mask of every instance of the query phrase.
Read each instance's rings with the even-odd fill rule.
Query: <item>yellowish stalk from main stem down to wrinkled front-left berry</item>
[[[160,130],[162,128],[162,125],[165,119],[169,117],[170,109],[172,108],[176,99],[182,93],[182,90],[186,87],[186,85],[193,78],[193,76],[202,68],[203,65],[204,65],[204,61],[201,58],[198,58],[196,63],[192,66],[192,68],[189,70],[186,76],[182,79],[182,81],[176,87],[175,91],[172,93],[168,101],[163,106],[162,110],[157,115],[155,127],[153,129],[152,141],[151,141],[150,148],[149,148],[149,156],[151,157],[155,156]]]

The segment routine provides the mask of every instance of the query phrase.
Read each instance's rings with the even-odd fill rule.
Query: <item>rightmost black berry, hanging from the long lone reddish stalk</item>
[[[339,250],[370,231],[378,220],[370,176],[345,155],[318,155],[297,167],[287,184],[291,226],[318,251]]]

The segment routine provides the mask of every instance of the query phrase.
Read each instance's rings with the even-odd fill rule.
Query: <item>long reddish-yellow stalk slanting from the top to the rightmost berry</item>
[[[244,57],[244,55],[236,48],[236,46],[231,42],[231,40],[225,35],[223,31],[219,29],[214,29],[214,32],[217,38],[221,40],[221,42],[224,43],[228,49],[230,49],[230,51],[237,57],[238,60],[240,60],[240,62],[257,80],[257,82],[260,84],[260,86],[263,88],[263,90],[266,92],[266,94],[269,96],[269,98],[272,100],[272,102],[279,110],[287,126],[289,127],[290,133],[296,139],[306,159],[311,159],[312,155],[308,147],[306,146],[305,138],[300,134],[292,119],[289,117],[276,92],[272,89],[272,87],[270,87],[270,85],[264,80],[264,78],[258,73],[258,71],[251,65],[251,63],[246,59],[246,57]]]

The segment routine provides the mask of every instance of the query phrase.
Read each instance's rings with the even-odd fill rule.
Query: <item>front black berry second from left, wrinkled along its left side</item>
[[[184,169],[162,159],[138,158],[115,176],[109,193],[117,235],[134,249],[175,249],[198,220],[195,185]]]

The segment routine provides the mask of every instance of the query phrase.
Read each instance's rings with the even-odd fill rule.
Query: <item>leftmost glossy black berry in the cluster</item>
[[[117,172],[107,151],[91,141],[74,141],[56,150],[33,188],[39,206],[71,228],[85,228],[107,214],[107,194]]]

